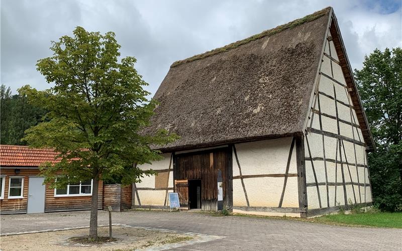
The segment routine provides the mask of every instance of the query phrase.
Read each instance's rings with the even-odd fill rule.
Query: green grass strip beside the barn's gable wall
[[[313,218],[321,223],[341,223],[347,225],[365,225],[377,227],[402,228],[402,212],[398,213],[353,213],[353,214],[331,214]]]

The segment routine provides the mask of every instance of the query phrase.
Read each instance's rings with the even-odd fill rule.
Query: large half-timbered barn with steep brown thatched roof
[[[332,8],[173,63],[154,98],[146,132],[181,138],[141,166],[158,175],[133,207],[173,191],[185,209],[299,217],[372,202],[375,145]]]

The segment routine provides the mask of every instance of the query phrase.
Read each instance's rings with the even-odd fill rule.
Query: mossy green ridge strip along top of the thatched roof
[[[331,7],[327,7],[325,9],[321,10],[321,11],[315,12],[315,13],[313,13],[311,15],[307,15],[304,18],[296,19],[296,20],[294,20],[292,22],[289,22],[287,24],[280,25],[280,26],[277,26],[277,27],[275,27],[273,29],[263,31],[260,34],[257,34],[257,35],[251,36],[249,38],[246,38],[246,39],[231,43],[231,44],[226,45],[224,47],[217,48],[217,49],[205,52],[203,54],[198,54],[198,55],[192,56],[192,57],[184,59],[184,60],[176,61],[170,67],[176,67],[176,66],[181,65],[181,64],[185,64],[185,63],[189,63],[189,62],[192,62],[192,61],[195,61],[195,60],[210,57],[210,56],[219,54],[221,52],[226,52],[226,51],[235,49],[235,48],[237,48],[237,47],[239,47],[241,45],[250,43],[251,41],[255,41],[255,40],[260,39],[260,38],[272,36],[274,34],[277,34],[279,32],[287,30],[287,29],[292,29],[294,27],[297,27],[297,26],[302,25],[302,24],[307,23],[307,22],[314,21],[314,20],[322,17],[322,16],[326,15],[330,10],[331,10]]]

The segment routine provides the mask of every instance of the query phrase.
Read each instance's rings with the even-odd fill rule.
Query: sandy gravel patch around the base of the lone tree
[[[99,236],[109,236],[109,227],[99,227]],[[115,241],[77,243],[88,228],[2,236],[1,250],[134,250],[188,241],[197,237],[130,226],[113,226]]]

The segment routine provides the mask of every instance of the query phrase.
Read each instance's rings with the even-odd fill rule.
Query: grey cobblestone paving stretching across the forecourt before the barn
[[[402,230],[160,211],[113,212],[113,223],[222,236],[176,250],[402,250]],[[2,215],[0,233],[85,227],[89,211]],[[108,213],[99,211],[99,225]]]

